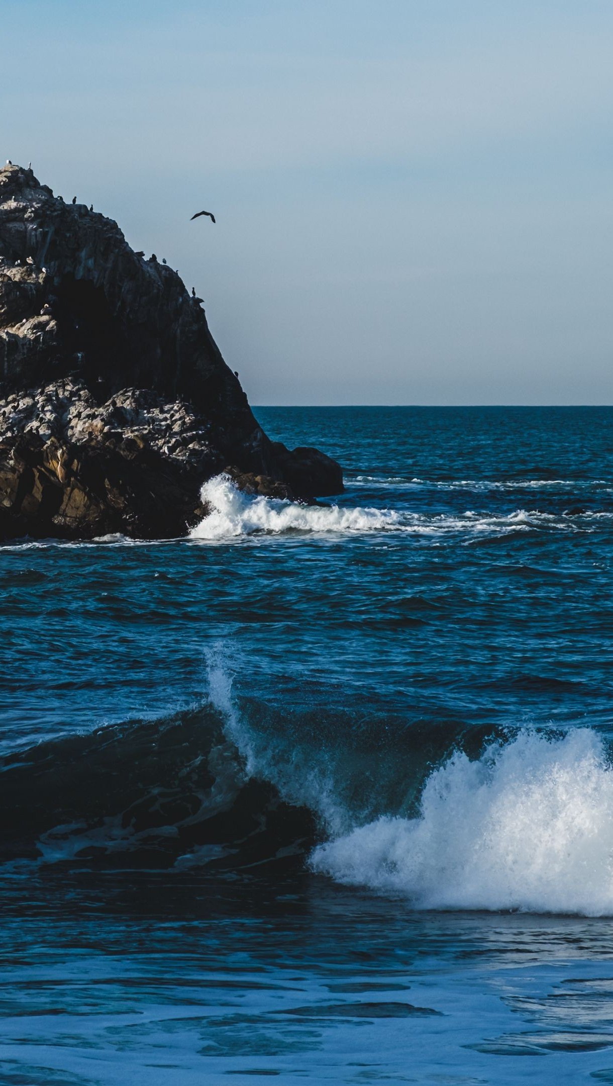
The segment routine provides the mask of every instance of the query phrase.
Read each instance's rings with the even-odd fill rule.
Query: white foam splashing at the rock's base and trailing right
[[[301,505],[298,502],[261,497],[238,490],[228,476],[216,476],[202,488],[202,500],[212,512],[192,529],[194,540],[222,540],[254,533],[284,532],[356,533],[400,531],[417,535],[438,535],[449,532],[506,534],[554,528],[589,530],[590,519],[611,514],[585,514],[576,517],[554,516],[538,510],[516,509],[502,516],[465,513],[455,516],[427,516],[410,510],[376,509],[369,506]]]

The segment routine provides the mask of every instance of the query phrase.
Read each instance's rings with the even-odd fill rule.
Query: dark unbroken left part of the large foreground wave
[[[10,755],[0,861],[235,872],[302,856],[312,815],[247,761],[210,704]]]

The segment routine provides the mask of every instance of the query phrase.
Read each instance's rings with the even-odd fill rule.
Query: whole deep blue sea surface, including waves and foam
[[[613,408],[0,547],[0,1084],[613,1083]]]

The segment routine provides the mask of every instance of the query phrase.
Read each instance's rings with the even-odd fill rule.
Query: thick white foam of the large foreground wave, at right
[[[613,770],[585,729],[456,754],[416,819],[380,818],[316,848],[315,870],[423,909],[613,915]]]

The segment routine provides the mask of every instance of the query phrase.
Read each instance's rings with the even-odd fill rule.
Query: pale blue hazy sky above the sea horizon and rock
[[[613,403],[610,0],[1,7],[2,161],[178,268],[253,404]]]

